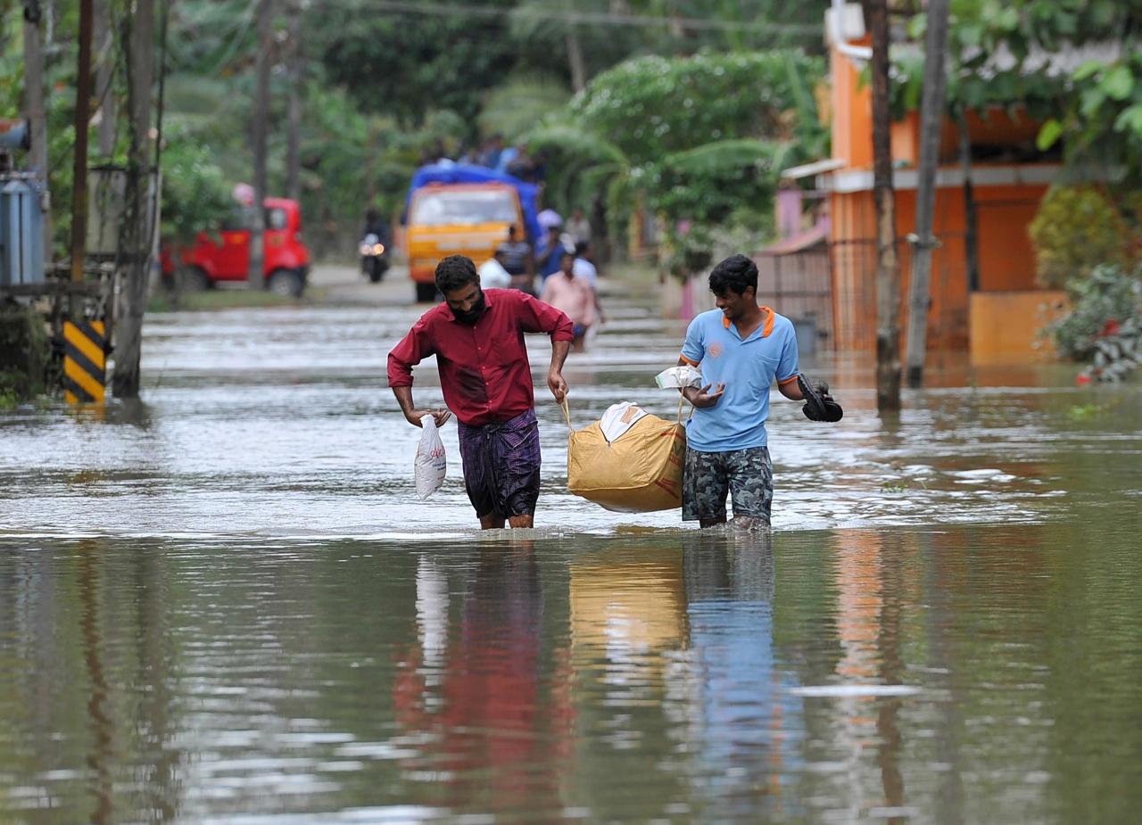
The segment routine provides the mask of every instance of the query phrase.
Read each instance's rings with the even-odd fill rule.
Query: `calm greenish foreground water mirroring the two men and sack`
[[[1124,820],[1133,529],[0,543],[0,819]]]

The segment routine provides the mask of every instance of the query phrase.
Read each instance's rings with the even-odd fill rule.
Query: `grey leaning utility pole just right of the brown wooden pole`
[[[948,0],[928,0],[924,43],[924,97],[920,100],[920,160],[916,187],[916,234],[912,242],[912,277],[908,297],[908,386],[924,385],[927,355],[927,310],[932,276],[932,235],[935,211],[935,172],[940,165],[940,131],[943,127],[948,50]]]

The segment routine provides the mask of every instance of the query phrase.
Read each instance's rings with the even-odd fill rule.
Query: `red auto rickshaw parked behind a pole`
[[[309,250],[301,242],[301,208],[286,197],[263,201],[262,273],[266,289],[297,298],[309,275]],[[190,249],[179,250],[180,282],[186,289],[206,290],[223,282],[244,282],[250,267],[250,230],[223,227],[217,233],[200,232]],[[163,256],[163,274],[172,276],[170,254]]]

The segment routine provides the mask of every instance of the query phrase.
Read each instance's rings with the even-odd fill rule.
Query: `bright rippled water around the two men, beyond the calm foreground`
[[[673,418],[677,395],[653,377],[673,365],[684,324],[660,317],[652,289],[603,281],[608,324],[565,367],[576,427],[633,401]],[[128,535],[453,535],[474,517],[456,427],[442,435],[444,487],[419,501],[419,430],[386,387],[389,348],[427,307],[394,270],[369,284],[352,267],[321,267],[299,306],[152,314],[142,403],[103,413],[24,407],[0,419],[0,532]],[[549,361],[529,337],[540,379]],[[1088,394],[1067,367],[981,371],[975,386],[906,393],[898,421],[875,414],[859,363],[803,358],[845,405],[836,426],[806,421],[773,394],[777,529],[1060,518],[1084,496],[1064,468],[1076,454],[1117,460],[1127,406],[1109,429],[1075,427]],[[416,372],[423,405],[442,404],[433,361]],[[944,378],[963,382],[963,373]],[[1014,383],[1013,383],[1014,382]],[[988,386],[995,383],[997,386]],[[1103,401],[1112,398],[1109,389]],[[1126,393],[1126,390],[1119,390]],[[1124,396],[1126,397],[1126,396]],[[546,387],[536,390],[544,452],[537,526],[613,532],[679,527],[677,511],[612,513],[566,492],[568,429]],[[1117,412],[1116,412],[1117,410]]]

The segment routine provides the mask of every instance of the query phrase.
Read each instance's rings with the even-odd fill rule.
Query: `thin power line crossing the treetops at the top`
[[[396,14],[421,15],[425,17],[517,17],[536,21],[560,21],[584,25],[627,26],[641,29],[676,27],[692,31],[766,31],[777,34],[798,34],[804,37],[823,37],[825,26],[807,23],[773,23],[758,21],[702,19],[698,17],[646,17],[643,15],[604,13],[604,11],[560,11],[555,9],[501,8],[486,6],[466,6],[442,2],[409,2],[408,0],[363,0],[362,8],[375,11],[393,11]]]

